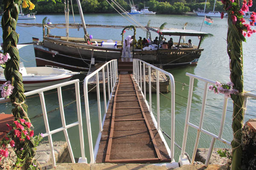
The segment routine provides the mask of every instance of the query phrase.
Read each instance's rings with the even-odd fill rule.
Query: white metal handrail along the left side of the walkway
[[[107,77],[105,78],[105,67],[107,68]],[[102,120],[101,116],[101,105],[100,105],[100,95],[99,95],[99,72],[102,72],[102,84],[103,84],[103,98],[104,98],[104,116]],[[89,149],[90,149],[90,162],[95,163],[96,155],[99,150],[99,142],[102,135],[102,128],[104,125],[109,101],[112,97],[113,89],[117,79],[117,60],[113,59],[96,71],[88,75],[84,78],[84,102],[85,102],[85,112],[86,112],[86,122],[87,122],[87,131],[88,131],[88,140],[89,140]],[[96,75],[96,88],[97,88],[97,105],[98,105],[98,116],[99,116],[99,134],[96,140],[95,148],[93,150],[93,139],[92,139],[92,132],[91,132],[91,125],[90,125],[90,111],[89,111],[89,101],[88,101],[88,80]],[[108,81],[108,103],[106,101],[106,88],[105,88],[105,80]],[[102,123],[103,122],[103,123]]]

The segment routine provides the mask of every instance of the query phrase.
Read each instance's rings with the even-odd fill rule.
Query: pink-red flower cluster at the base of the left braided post
[[[23,145],[33,139],[34,136],[34,130],[31,130],[32,124],[26,122],[25,119],[17,119],[16,121],[13,121],[11,125],[6,124],[6,126],[10,131],[0,142],[0,161],[9,156],[8,148],[13,147],[16,149],[15,152],[17,155],[15,167],[22,167],[26,161],[26,159],[22,159],[23,155],[26,153]],[[34,137],[35,147],[38,146],[43,137],[43,133]],[[35,159],[32,159],[29,169],[38,169],[38,165],[36,165],[35,161]]]

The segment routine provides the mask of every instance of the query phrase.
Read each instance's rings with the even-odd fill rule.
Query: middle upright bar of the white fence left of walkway
[[[62,94],[61,94],[61,87],[58,87],[58,101],[59,101],[59,106],[60,106],[60,112],[61,112],[61,122],[62,122],[62,127],[64,127],[65,129],[63,130],[64,135],[65,135],[65,139],[67,142],[67,147],[70,153],[70,158],[72,163],[76,163],[74,155],[73,155],[73,151],[72,151],[72,147],[70,144],[70,140],[68,137],[68,133],[67,133],[67,129],[66,129],[66,121],[65,121],[65,115],[64,115],[64,107],[63,107],[63,101],[62,101]]]

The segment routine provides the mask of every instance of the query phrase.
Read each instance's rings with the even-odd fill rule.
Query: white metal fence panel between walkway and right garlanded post
[[[183,164],[194,164],[196,150],[198,148],[200,134],[202,132],[202,133],[212,137],[211,143],[210,143],[210,146],[209,146],[209,150],[208,150],[208,153],[207,153],[207,159],[206,159],[205,164],[204,164],[206,167],[208,167],[209,160],[210,160],[210,157],[212,155],[212,150],[213,150],[216,139],[218,141],[224,143],[224,144],[227,144],[228,146],[231,146],[231,142],[229,142],[225,139],[222,139],[222,133],[223,133],[223,129],[224,129],[224,123],[225,123],[225,117],[226,117],[226,111],[227,111],[228,97],[224,96],[224,102],[223,102],[219,132],[218,132],[218,134],[213,134],[213,133],[203,129],[202,125],[203,125],[203,122],[204,122],[205,107],[206,107],[206,100],[207,100],[207,91],[209,89],[209,84],[210,85],[215,85],[215,82],[212,81],[212,80],[209,80],[209,79],[205,79],[203,77],[199,77],[199,76],[195,76],[193,74],[189,74],[189,73],[186,73],[186,76],[189,76],[189,94],[188,94],[188,101],[187,101],[187,108],[186,108],[186,119],[185,119],[184,133],[183,133],[183,143],[182,143],[182,149],[181,149],[181,153],[180,153],[179,163],[180,163],[180,166],[182,166]],[[189,122],[194,79],[197,79],[197,80],[200,80],[200,81],[204,82],[204,94],[203,94],[203,100],[202,100],[202,106],[201,106],[201,115],[200,115],[200,119],[199,119],[199,125],[195,125],[195,124]],[[246,108],[248,97],[256,99],[255,94],[251,94],[251,93],[244,94],[244,108]],[[192,127],[192,128],[197,130],[197,136],[196,136],[196,139],[195,139],[195,146],[194,146],[194,149],[193,149],[192,158],[191,158],[190,162],[187,159],[187,157],[184,156],[185,149],[186,149],[187,135],[188,135],[188,127]]]

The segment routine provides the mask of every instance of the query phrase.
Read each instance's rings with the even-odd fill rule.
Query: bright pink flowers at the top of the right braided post
[[[254,26],[254,23],[256,21],[256,13],[252,12],[250,19],[250,24],[247,24],[246,21],[244,20],[244,13],[249,11],[249,7],[253,5],[252,0],[243,0],[243,5],[240,9],[239,3],[236,3],[235,0],[221,0],[221,2],[224,4],[224,9],[228,12],[228,15],[232,18],[232,23],[235,25],[239,32],[244,36],[244,37],[250,37],[251,34],[255,33],[256,30],[251,29],[250,26]],[[221,19],[224,17],[224,12],[221,13]],[[243,41],[245,39],[243,38]]]

